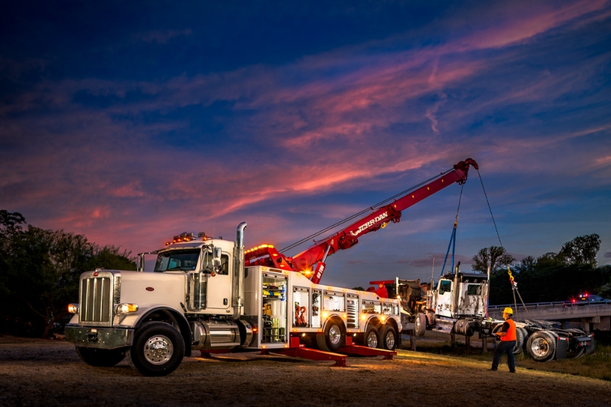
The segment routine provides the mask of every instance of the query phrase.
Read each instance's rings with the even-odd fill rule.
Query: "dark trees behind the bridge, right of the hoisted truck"
[[[564,301],[580,293],[611,298],[611,265],[598,266],[599,249],[600,237],[589,234],[566,242],[558,253],[526,256],[518,262],[503,247],[490,246],[473,257],[472,269],[485,273],[490,266],[491,305],[514,303],[507,267],[525,303]],[[518,295],[516,299],[519,303]]]

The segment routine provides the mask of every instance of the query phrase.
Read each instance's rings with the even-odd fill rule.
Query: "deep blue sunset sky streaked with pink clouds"
[[[136,254],[246,221],[281,249],[473,158],[509,253],[597,233],[611,263],[610,1],[28,1],[0,38],[0,209],[37,227]],[[437,276],[459,194],[323,282]],[[490,245],[471,170],[461,268]]]

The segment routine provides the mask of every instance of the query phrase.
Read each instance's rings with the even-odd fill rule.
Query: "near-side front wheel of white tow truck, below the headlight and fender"
[[[125,352],[131,367],[144,376],[166,376],[185,356],[180,333],[166,322],[146,322],[134,334],[134,344]]]

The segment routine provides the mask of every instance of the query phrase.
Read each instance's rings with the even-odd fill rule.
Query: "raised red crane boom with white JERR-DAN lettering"
[[[274,246],[261,245],[244,253],[247,266],[266,265],[284,270],[298,271],[308,276],[310,280],[318,284],[325,271],[325,260],[336,251],[348,249],[359,242],[359,237],[369,232],[386,227],[390,222],[397,223],[401,220],[401,212],[433,195],[435,192],[453,183],[462,185],[467,180],[469,167],[472,165],[476,170],[477,163],[472,158],[454,165],[452,170],[441,173],[438,177],[399,197],[389,205],[377,208],[369,215],[362,217],[350,224],[350,226],[332,234],[330,237],[315,242],[300,254],[293,257],[279,253]]]

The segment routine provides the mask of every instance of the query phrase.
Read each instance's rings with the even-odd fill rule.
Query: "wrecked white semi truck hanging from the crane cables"
[[[396,295],[401,301],[404,330],[411,328],[418,337],[424,336],[426,330],[465,337],[477,332],[480,337],[490,337],[504,321],[487,317],[489,273],[465,273],[457,266],[453,273],[440,276],[436,286],[432,280],[421,283],[401,278],[372,283],[382,283]],[[514,322],[517,327],[514,354],[525,349],[537,362],[549,362],[594,352],[593,335],[582,330],[563,330],[549,321]]]

